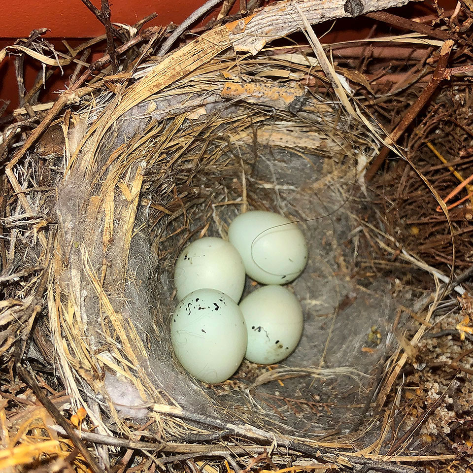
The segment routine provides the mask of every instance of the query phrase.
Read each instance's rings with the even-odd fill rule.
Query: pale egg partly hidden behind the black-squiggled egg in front
[[[235,247],[212,236],[193,241],[179,255],[174,270],[177,299],[197,289],[228,294],[236,303],[245,285],[245,267]]]

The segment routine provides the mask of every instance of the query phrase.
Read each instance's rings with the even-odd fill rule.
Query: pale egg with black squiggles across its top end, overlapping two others
[[[177,359],[206,383],[228,379],[243,360],[247,331],[235,301],[215,289],[198,289],[177,306],[171,319]]]

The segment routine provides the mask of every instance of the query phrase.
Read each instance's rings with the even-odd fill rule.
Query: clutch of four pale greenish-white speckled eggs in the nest
[[[204,237],[179,255],[171,342],[187,372],[207,383],[228,379],[243,357],[272,364],[286,358],[303,331],[302,308],[281,284],[304,270],[308,250],[298,226],[273,212],[249,211],[229,227],[229,242]],[[248,274],[269,286],[241,301]],[[246,323],[245,323],[246,322]]]

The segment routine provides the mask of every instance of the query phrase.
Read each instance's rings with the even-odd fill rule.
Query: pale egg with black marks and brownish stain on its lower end
[[[263,365],[291,354],[302,336],[304,317],[296,296],[282,286],[264,286],[240,303],[248,331],[245,358]]]

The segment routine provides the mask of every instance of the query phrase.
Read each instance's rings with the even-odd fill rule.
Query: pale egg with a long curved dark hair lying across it
[[[253,210],[238,215],[230,224],[228,239],[241,255],[246,273],[262,284],[286,284],[307,263],[304,235],[278,213]]]

